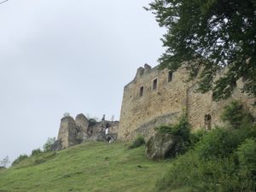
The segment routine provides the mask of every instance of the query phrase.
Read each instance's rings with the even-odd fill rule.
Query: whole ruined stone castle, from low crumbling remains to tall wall
[[[220,71],[216,79],[224,74]],[[198,79],[189,81],[186,65],[176,72],[157,67],[137,69],[131,83],[124,88],[123,102],[119,121],[91,122],[84,114],[76,119],[70,116],[61,119],[58,140],[53,149],[61,150],[84,141],[122,141],[132,140],[137,135],[146,139],[154,136],[154,128],[160,125],[175,124],[182,113],[187,113],[193,130],[210,130],[216,125],[223,125],[219,115],[226,104],[237,100],[256,116],[253,108],[255,97],[241,92],[244,79],[236,81],[236,88],[229,99],[215,102],[212,91],[202,94],[197,90]]]

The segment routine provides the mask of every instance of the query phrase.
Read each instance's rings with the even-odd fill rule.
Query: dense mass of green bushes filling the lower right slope
[[[256,191],[256,125],[250,124],[251,116],[236,105],[231,103],[225,111],[233,129],[217,127],[191,133],[190,146],[195,148],[172,161],[155,191]],[[236,118],[230,108],[235,110]],[[182,135],[168,129],[163,127],[161,131]]]

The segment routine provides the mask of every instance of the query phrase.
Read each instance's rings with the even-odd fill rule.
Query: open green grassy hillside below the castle
[[[57,154],[40,154],[0,171],[0,192],[154,191],[171,164],[148,160],[144,147],[127,147],[127,143],[84,143]]]

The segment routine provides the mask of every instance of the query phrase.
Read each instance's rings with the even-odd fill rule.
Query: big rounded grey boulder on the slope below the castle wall
[[[168,133],[157,133],[154,137],[150,137],[148,143],[146,144],[146,154],[148,158],[166,159],[172,156],[175,145],[176,138]]]

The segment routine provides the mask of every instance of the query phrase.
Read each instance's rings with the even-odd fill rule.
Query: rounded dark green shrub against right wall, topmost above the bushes
[[[224,110],[220,116],[224,122],[228,122],[231,128],[238,129],[241,125],[247,125],[253,123],[253,116],[248,113],[237,101],[231,102],[224,107]]]

